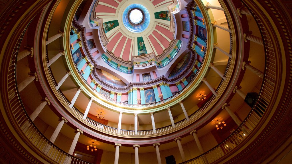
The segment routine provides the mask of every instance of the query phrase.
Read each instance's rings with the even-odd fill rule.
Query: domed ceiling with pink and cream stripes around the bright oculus
[[[95,17],[102,19],[107,51],[126,62],[133,56],[163,54],[174,39],[167,8],[172,3],[172,0],[100,0],[94,11]]]

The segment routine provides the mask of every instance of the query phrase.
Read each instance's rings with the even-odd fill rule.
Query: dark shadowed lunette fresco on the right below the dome
[[[191,60],[191,52],[185,54],[185,56],[176,64],[176,66],[172,69],[171,73],[169,74],[168,78],[173,78],[178,76],[182,73],[186,68],[187,65],[190,63]]]

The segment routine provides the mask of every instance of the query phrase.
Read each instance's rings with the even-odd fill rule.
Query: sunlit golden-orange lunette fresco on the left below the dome
[[[121,79],[117,78],[116,76],[108,73],[107,71],[101,70],[101,69],[96,69],[96,74],[98,75],[98,77],[112,85],[112,86],[116,86],[116,87],[124,87],[127,86],[126,83],[124,83],[124,81],[121,81]]]

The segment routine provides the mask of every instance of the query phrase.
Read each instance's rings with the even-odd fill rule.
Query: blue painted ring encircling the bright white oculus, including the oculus
[[[123,12],[123,23],[130,32],[139,33],[147,29],[150,15],[143,5],[131,4]]]

